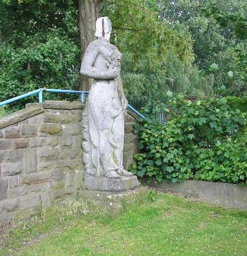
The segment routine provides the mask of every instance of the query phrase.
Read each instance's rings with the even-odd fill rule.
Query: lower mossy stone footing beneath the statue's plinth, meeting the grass
[[[95,205],[103,206],[110,212],[118,213],[124,204],[131,204],[141,198],[147,189],[138,187],[133,190],[122,191],[119,193],[109,191],[83,190],[81,196],[91,201]]]

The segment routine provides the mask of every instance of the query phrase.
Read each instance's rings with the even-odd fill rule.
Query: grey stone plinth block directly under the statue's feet
[[[88,190],[121,192],[138,188],[139,181],[134,175],[111,179],[86,175],[85,186]]]

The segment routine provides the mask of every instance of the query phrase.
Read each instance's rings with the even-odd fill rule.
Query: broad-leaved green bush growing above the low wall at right
[[[171,92],[167,93],[171,96]],[[141,153],[130,171],[139,177],[179,182],[187,179],[247,183],[246,113],[238,98],[196,102],[168,98],[153,114],[167,112],[167,123],[152,118],[134,127]]]

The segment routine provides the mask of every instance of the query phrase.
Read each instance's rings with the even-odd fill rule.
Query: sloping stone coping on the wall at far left
[[[44,112],[44,108],[42,107],[30,107],[30,108],[24,108],[22,110],[19,110],[13,114],[10,114],[6,117],[2,117],[0,119],[0,129],[3,129],[4,127],[7,127],[9,125],[21,122],[29,117],[36,116],[40,113]]]

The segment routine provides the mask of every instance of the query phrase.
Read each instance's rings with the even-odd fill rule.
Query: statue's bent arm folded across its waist
[[[118,68],[109,68],[108,70],[99,70],[93,66],[95,59],[100,54],[100,49],[95,41],[91,42],[85,52],[81,62],[80,73],[94,79],[112,79],[118,76]]]

